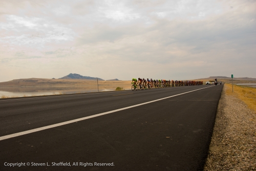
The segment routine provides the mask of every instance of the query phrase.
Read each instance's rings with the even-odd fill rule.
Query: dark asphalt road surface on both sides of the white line
[[[0,170],[202,170],[222,88],[203,85],[0,100]],[[200,90],[192,91],[196,89]],[[180,93],[184,94],[173,96]],[[173,97],[1,140],[168,96]],[[21,162],[25,166],[5,166]],[[32,162],[45,166],[31,166]],[[52,166],[53,162],[71,166]],[[76,162],[78,166],[73,165]]]

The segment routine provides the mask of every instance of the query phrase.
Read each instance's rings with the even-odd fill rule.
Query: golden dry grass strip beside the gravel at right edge
[[[256,88],[244,87],[231,84],[224,84],[227,87],[226,94],[233,95],[241,99],[250,109],[256,112]]]

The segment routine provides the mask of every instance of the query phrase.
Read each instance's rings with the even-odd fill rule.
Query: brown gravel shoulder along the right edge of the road
[[[256,170],[256,114],[224,85],[204,170]]]

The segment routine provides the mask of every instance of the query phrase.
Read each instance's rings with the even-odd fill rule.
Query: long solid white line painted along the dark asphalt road
[[[212,86],[210,86],[210,87],[212,87]],[[209,87],[205,87],[205,88],[209,88]],[[164,99],[168,99],[168,98],[170,98],[170,97],[178,96],[178,95],[181,95],[181,94],[186,94],[186,93],[193,92],[193,91],[197,91],[197,90],[201,90],[201,89],[204,89],[204,88],[200,88],[200,89],[196,89],[196,90],[192,90],[192,91],[183,92],[183,93],[180,93],[180,94],[176,94],[176,95],[164,97],[164,98],[162,98],[162,99],[157,99],[157,100],[150,101],[150,102],[141,103],[141,104],[138,104],[138,105],[133,105],[133,106],[125,107],[125,108],[120,108],[120,109],[116,109],[116,110],[111,110],[111,111],[108,111],[108,112],[103,112],[103,113],[99,113],[99,114],[95,114],[95,115],[91,115],[91,116],[81,117],[81,118],[78,118],[78,119],[65,121],[65,122],[63,122],[63,123],[53,124],[53,125],[49,125],[49,126],[45,126],[45,127],[40,127],[40,128],[28,130],[28,131],[18,132],[18,133],[14,133],[14,134],[10,134],[10,135],[5,135],[5,136],[0,137],[0,141],[1,141],[1,140],[4,140],[4,139],[8,139],[8,138],[13,138],[13,137],[25,135],[25,134],[30,134],[30,133],[37,132],[37,131],[42,131],[42,130],[46,130],[46,129],[50,129],[50,128],[54,128],[54,127],[59,127],[59,126],[62,126],[62,125],[67,125],[67,124],[71,124],[71,123],[76,123],[77,121],[86,120],[86,119],[90,119],[90,118],[93,118],[93,117],[98,117],[98,116],[102,116],[102,115],[105,115],[105,114],[118,112],[118,111],[125,110],[125,109],[134,108],[134,107],[137,107],[137,106],[141,106],[141,105],[145,105],[145,104],[149,104],[149,103],[161,101],[161,100],[164,100]]]

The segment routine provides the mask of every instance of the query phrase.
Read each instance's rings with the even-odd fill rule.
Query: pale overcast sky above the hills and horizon
[[[0,82],[256,78],[255,17],[255,0],[0,0]]]

